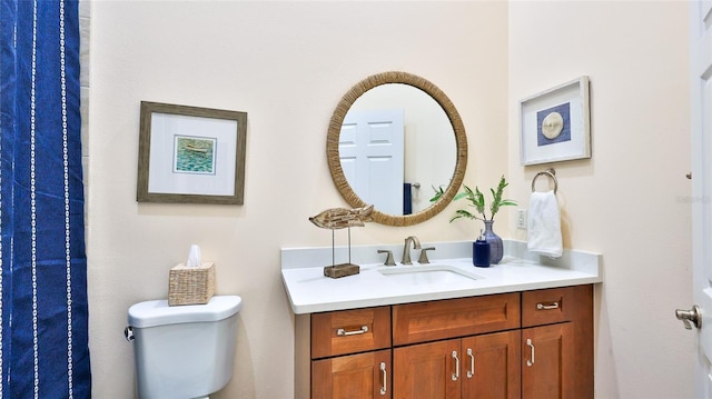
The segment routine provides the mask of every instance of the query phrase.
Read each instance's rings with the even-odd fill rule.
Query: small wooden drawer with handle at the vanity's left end
[[[312,359],[390,347],[390,307],[312,315]]]

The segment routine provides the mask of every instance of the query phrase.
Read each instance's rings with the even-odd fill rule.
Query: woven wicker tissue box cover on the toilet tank
[[[205,305],[215,295],[215,263],[202,262],[197,268],[184,263],[170,268],[168,306]]]

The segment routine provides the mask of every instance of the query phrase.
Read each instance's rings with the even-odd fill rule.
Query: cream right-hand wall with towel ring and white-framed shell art
[[[526,205],[554,167],[564,246],[603,253],[597,398],[693,397],[694,333],[673,313],[692,303],[686,18],[683,1],[510,3],[511,194]],[[583,74],[593,158],[521,167],[516,101]]]

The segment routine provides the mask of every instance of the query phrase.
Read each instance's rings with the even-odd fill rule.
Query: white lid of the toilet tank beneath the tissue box
[[[129,308],[129,326],[144,328],[182,322],[218,321],[237,313],[243,303],[238,296],[214,296],[206,305],[168,306],[168,300],[150,300]]]

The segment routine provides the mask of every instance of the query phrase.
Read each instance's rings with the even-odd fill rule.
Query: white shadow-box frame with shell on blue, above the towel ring
[[[567,106],[567,107],[566,107]],[[563,107],[566,137],[546,139],[537,119]],[[520,160],[523,166],[591,158],[589,77],[560,84],[520,101]]]

